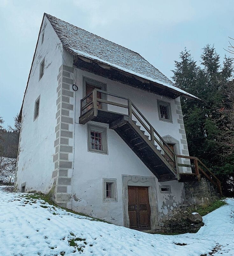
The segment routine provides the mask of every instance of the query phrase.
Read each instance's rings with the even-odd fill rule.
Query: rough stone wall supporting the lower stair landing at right
[[[220,199],[217,188],[210,181],[201,178],[198,181],[184,182],[185,196],[188,203],[196,205],[209,205]]]

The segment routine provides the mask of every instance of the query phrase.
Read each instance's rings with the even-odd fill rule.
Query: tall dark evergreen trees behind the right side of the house
[[[190,156],[200,158],[211,170],[227,182],[227,173],[233,173],[231,156],[224,154],[224,147],[217,143],[225,120],[220,119],[220,109],[228,102],[224,93],[232,77],[233,60],[225,56],[223,66],[214,46],[206,45],[198,66],[187,49],[175,62],[173,79],[178,87],[199,97],[199,100],[181,98],[184,126]],[[224,170],[224,166],[228,167]],[[224,189],[225,190],[225,189]]]

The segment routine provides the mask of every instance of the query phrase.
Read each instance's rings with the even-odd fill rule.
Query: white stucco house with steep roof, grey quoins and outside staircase
[[[185,198],[176,87],[138,53],[44,14],[19,120],[15,191],[138,230]],[[187,174],[188,175],[187,175]],[[196,175],[196,174],[192,174]]]

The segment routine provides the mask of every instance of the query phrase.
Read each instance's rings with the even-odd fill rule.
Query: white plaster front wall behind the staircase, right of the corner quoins
[[[83,76],[107,83],[107,91],[120,96],[129,97],[132,102],[142,111],[151,124],[158,130],[161,136],[170,134],[180,141],[178,115],[176,114],[175,101],[171,102],[173,123],[159,121],[157,99],[161,99],[153,93],[144,92],[133,87],[123,85],[105,79],[103,77],[76,69],[76,82],[79,87],[76,92],[75,113],[75,162],[74,162],[74,198],[72,205],[76,211],[85,212],[95,217],[100,217],[112,223],[123,225],[123,194],[121,175],[135,175],[154,177],[153,173],[143,164],[119,135],[111,129],[107,129],[108,155],[87,151],[87,124],[79,124],[80,99],[84,97],[82,89]],[[109,109],[110,110],[110,109]],[[97,124],[106,126],[106,124]],[[103,178],[117,179],[118,202],[103,202]],[[173,203],[182,201],[183,183],[178,181],[167,182],[173,186]],[[157,193],[159,194],[159,182],[156,179]],[[163,200],[165,195],[158,196],[159,211],[163,212]],[[169,207],[169,211],[170,211]],[[165,212],[165,210],[164,210]]]

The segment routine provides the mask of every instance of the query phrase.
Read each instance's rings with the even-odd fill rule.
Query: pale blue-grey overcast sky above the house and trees
[[[20,111],[44,12],[140,53],[170,78],[184,47],[197,61],[206,44],[227,54],[233,7],[231,0],[0,0],[4,126]]]

